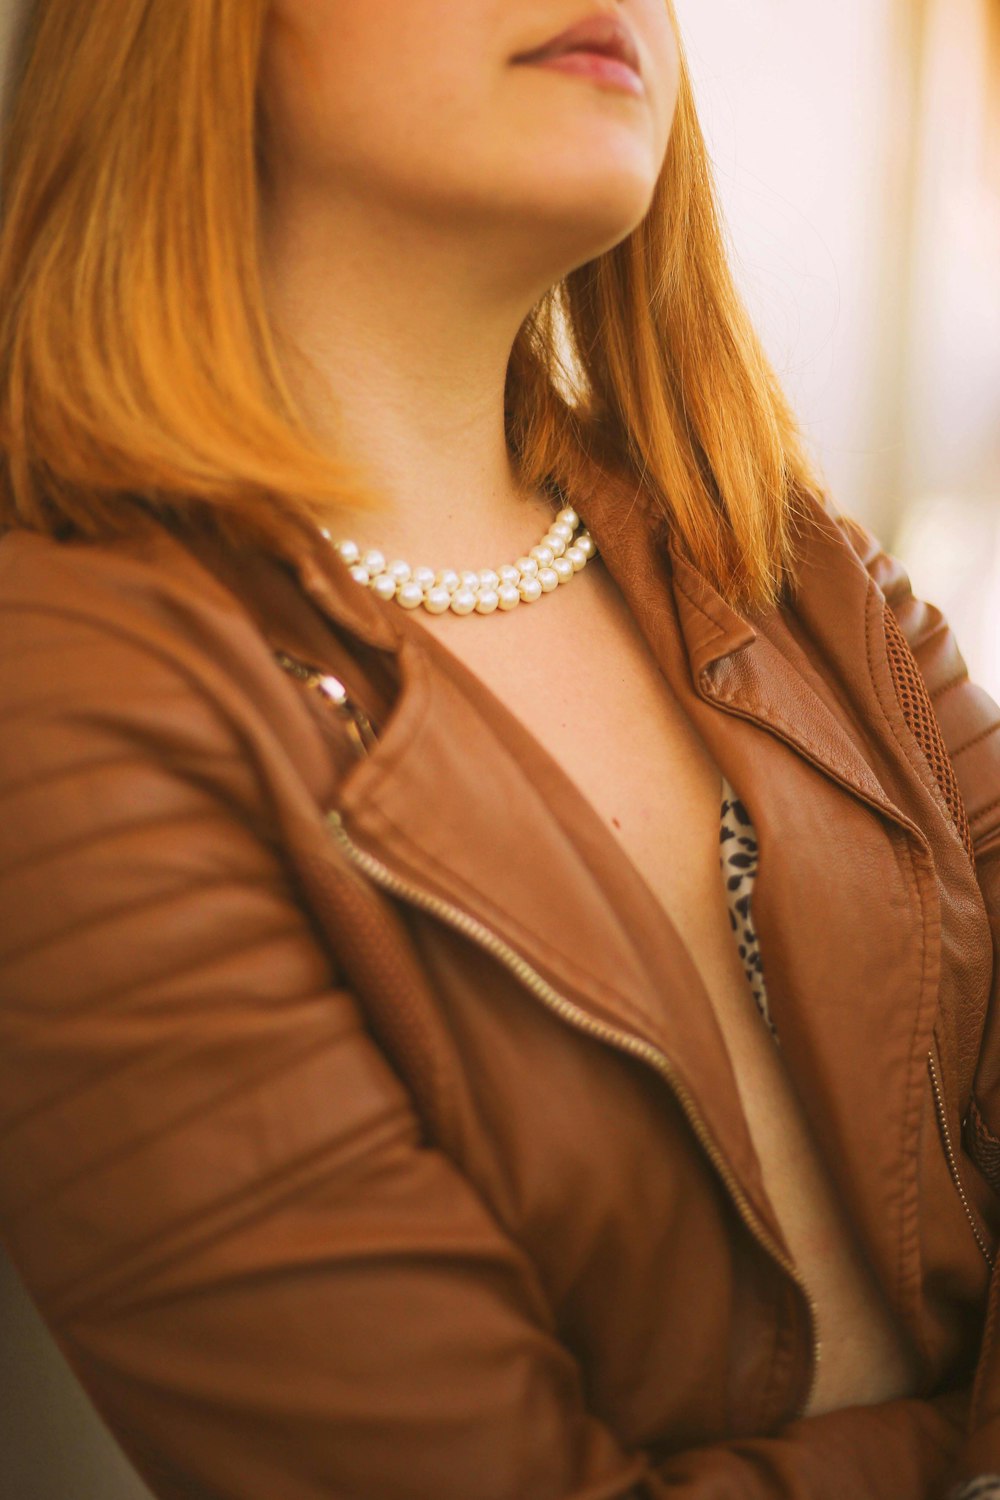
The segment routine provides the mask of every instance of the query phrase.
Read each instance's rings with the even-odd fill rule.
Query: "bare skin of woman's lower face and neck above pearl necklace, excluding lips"
[[[631,27],[645,98],[511,63],[598,8]],[[276,0],[265,292],[312,362],[289,368],[310,423],[384,500],[340,534],[414,561],[520,555],[538,496],[507,450],[511,345],[643,219],[676,84],[663,0]]]

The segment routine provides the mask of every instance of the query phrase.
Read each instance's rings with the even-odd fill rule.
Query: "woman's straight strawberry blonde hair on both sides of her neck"
[[[280,550],[337,504],[379,510],[268,324],[267,8],[28,0],[0,138],[0,528],[109,537],[153,510]],[[528,488],[645,486],[732,603],[778,598],[819,484],[733,285],[684,56],[648,214],[532,309],[505,412]]]

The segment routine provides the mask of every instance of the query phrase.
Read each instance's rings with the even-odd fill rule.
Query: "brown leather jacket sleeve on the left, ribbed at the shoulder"
[[[0,642],[0,1227],[162,1500],[931,1491],[961,1396],[625,1450],[423,1140],[229,706],[64,610]]]

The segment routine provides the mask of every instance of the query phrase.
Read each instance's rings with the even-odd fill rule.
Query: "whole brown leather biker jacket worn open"
[[[771,1011],[921,1392],[799,1416],[808,1290],[682,936],[451,652],[321,542],[10,534],[0,1233],[165,1500],[1000,1468],[1000,711],[819,507],[753,622],[631,496],[582,513],[757,826]]]

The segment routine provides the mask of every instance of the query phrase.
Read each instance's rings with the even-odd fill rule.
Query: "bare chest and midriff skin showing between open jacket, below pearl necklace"
[[[768,1192],[826,1336],[814,1402],[906,1389],[898,1338],[733,940],[720,868],[721,771],[613,580],[592,562],[573,588],[538,608],[501,618],[438,616],[429,628],[576,783],[678,928],[705,982]]]

